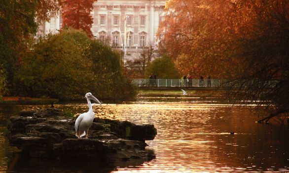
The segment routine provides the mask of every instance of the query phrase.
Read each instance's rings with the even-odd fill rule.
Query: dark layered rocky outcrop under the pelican
[[[75,118],[55,108],[22,111],[10,117],[8,138],[12,146],[30,158],[97,159],[104,162],[151,160],[155,154],[145,149],[145,140],[156,135],[153,125],[95,118],[89,138],[77,139]]]

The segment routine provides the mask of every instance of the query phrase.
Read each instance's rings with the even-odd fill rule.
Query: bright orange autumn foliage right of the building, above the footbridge
[[[288,12],[286,0],[169,0],[157,33],[162,52],[183,74],[229,79],[244,73],[234,56],[239,39],[256,37],[256,25],[268,10]],[[287,5],[284,5],[287,4]],[[272,18],[273,20],[273,18]],[[260,26],[258,26],[261,28]],[[261,33],[262,31],[260,31]]]

